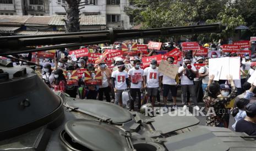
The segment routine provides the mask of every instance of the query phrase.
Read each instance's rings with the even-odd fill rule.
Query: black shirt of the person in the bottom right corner
[[[256,136],[256,124],[247,120],[239,120],[236,124],[236,132],[245,132],[249,136]]]

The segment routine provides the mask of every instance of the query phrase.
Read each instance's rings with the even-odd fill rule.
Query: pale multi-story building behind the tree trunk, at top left
[[[80,15],[101,15],[105,16],[107,27],[132,28],[129,16],[124,13],[124,9],[129,7],[128,0],[81,0],[81,2],[90,4],[80,7]],[[65,3],[65,0],[0,0],[0,15],[66,15],[62,6]]]

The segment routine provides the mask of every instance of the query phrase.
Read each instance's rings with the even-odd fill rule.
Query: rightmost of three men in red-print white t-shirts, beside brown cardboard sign
[[[152,107],[154,107],[159,85],[161,85],[161,75],[156,65],[157,61],[152,60],[150,67],[144,69],[144,88],[148,91],[148,96],[152,97]]]

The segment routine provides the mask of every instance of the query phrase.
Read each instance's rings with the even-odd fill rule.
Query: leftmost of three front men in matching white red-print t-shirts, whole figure
[[[112,72],[112,81],[113,81],[113,87],[115,91],[115,104],[118,104],[122,107],[123,102],[122,102],[122,93],[124,90],[127,89],[129,86],[129,75],[124,69],[124,63],[123,62],[118,62],[117,63],[118,70]]]

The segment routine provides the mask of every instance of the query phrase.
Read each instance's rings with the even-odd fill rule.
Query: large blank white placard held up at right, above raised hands
[[[240,79],[240,57],[219,57],[209,59],[209,75],[215,74],[219,78],[214,80],[227,80],[232,75],[234,80]]]

